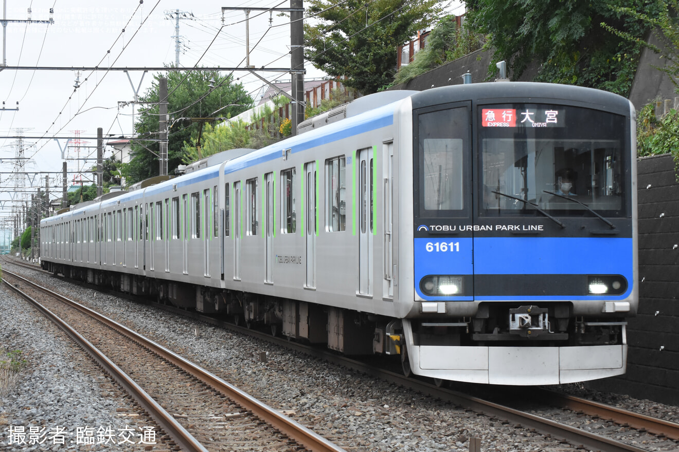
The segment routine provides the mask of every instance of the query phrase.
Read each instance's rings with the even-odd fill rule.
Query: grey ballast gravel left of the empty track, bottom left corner
[[[0,450],[166,449],[139,444],[155,424],[56,325],[4,287],[0,312],[0,362],[18,367],[0,384]]]

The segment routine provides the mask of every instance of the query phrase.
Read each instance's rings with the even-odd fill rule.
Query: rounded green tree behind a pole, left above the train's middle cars
[[[153,84],[141,98],[142,102],[158,102],[158,87],[162,75],[154,77]],[[198,124],[191,121],[180,121],[181,118],[210,117],[218,111],[219,116],[232,117],[247,110],[252,98],[246,93],[242,83],[234,83],[233,77],[219,77],[213,70],[197,70],[189,73],[169,71],[168,79],[168,115],[170,127],[168,133],[168,173],[181,164],[182,147],[197,133]],[[212,85],[212,87],[210,87]],[[149,104],[149,108],[141,110],[139,121],[135,125],[136,139],[132,142],[129,163],[123,164],[122,175],[128,184],[158,176],[158,104]],[[225,108],[223,108],[225,107]],[[173,126],[173,123],[175,124]]]

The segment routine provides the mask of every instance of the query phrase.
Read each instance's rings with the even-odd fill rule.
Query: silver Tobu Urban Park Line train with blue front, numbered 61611
[[[436,384],[620,375],[635,124],[629,100],[569,85],[364,96],[56,212],[41,266]]]

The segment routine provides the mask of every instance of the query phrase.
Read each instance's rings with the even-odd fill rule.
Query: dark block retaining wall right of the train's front
[[[587,386],[679,405],[679,183],[671,155],[638,161],[639,280],[627,374]]]

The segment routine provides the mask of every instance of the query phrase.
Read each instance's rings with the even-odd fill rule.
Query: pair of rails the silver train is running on
[[[33,268],[35,268],[35,266],[33,266]],[[161,306],[166,310],[174,310],[174,308],[169,306],[158,306]],[[461,391],[455,391],[449,388],[437,388],[437,386],[429,384],[428,382],[407,379],[399,373],[379,369],[373,365],[348,359],[344,356],[337,356],[333,353],[327,353],[325,350],[318,350],[316,348],[310,348],[301,344],[288,342],[285,338],[272,337],[270,333],[262,333],[253,329],[236,327],[232,324],[226,324],[223,321],[218,321],[200,314],[190,313],[185,310],[177,310],[177,312],[180,312],[182,316],[191,315],[200,321],[218,325],[219,327],[237,329],[241,333],[258,337],[261,340],[274,342],[280,346],[293,348],[295,350],[304,352],[305,354],[310,354],[312,356],[323,358],[326,361],[336,363],[337,365],[360,371],[361,373],[374,375],[380,379],[391,382],[392,384],[403,386],[405,390],[417,391],[428,396],[446,400],[447,402],[464,409],[469,409],[477,413],[483,413],[484,415],[488,415],[489,417],[495,419],[500,419],[503,423],[521,426],[546,436],[552,436],[553,438],[570,443],[575,447],[585,447],[590,450],[602,451],[648,450],[635,444],[627,444],[621,440],[605,437],[581,428],[566,426],[561,422],[550,420],[540,415],[527,413],[526,410],[513,409],[508,406],[510,405],[509,403],[493,403],[490,400],[485,400],[483,397],[479,398],[470,396],[469,394],[465,394]],[[640,415],[638,413],[632,413],[630,411],[609,407],[608,405],[593,403],[589,400],[574,396],[559,396],[559,394],[555,394],[553,392],[539,392],[537,388],[530,388],[529,392],[531,394],[531,398],[534,400],[540,400],[542,405],[547,405],[547,403],[549,403],[549,405],[555,405],[576,413],[582,413],[586,418],[591,417],[606,419],[607,421],[610,420],[611,423],[621,426],[621,430],[639,430],[642,433],[648,432],[649,434],[655,434],[661,438],[665,437],[669,440],[679,440],[679,425],[666,422],[663,419],[655,419],[653,417]],[[608,430],[611,429],[608,428]],[[642,442],[643,441],[639,441],[639,444]]]

